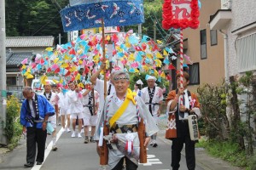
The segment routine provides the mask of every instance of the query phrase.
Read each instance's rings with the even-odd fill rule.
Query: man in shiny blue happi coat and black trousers
[[[55,115],[55,109],[43,95],[35,94],[30,87],[23,89],[23,96],[26,99],[20,110],[20,124],[23,125],[23,133],[26,133],[26,164],[24,167],[33,167],[37,145],[37,165],[41,165],[44,161],[47,122],[49,116]]]

